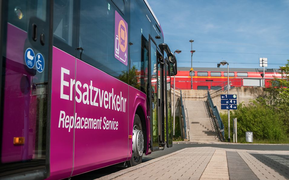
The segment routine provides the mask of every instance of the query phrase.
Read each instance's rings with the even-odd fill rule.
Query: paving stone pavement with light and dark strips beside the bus
[[[287,168],[289,151],[190,147],[100,179],[288,179]]]

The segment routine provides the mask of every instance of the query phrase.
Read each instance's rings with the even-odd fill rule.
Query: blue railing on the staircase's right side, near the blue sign
[[[218,134],[219,135],[222,134],[220,139],[222,139],[224,141],[225,140],[224,124],[222,122],[222,119],[221,119],[221,116],[220,116],[220,113],[218,111],[217,106],[214,106],[214,103],[212,101],[212,98],[211,98],[209,90],[208,90],[208,102],[209,102],[209,105],[210,105],[210,108],[212,110],[212,113],[213,113],[214,117],[217,119],[217,122],[215,124],[216,124],[217,129],[218,129]]]

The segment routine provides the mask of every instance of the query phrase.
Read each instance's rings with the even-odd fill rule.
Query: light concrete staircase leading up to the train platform
[[[190,141],[219,141],[218,132],[214,120],[208,112],[207,103],[186,99],[186,108],[190,127]]]

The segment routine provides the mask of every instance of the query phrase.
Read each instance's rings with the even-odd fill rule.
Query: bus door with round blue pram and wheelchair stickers
[[[53,0],[0,3],[0,177],[46,178]]]

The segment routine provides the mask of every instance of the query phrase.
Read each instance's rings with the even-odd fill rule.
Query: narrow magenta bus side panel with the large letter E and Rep
[[[71,79],[75,79],[75,57],[53,47],[50,133],[51,179],[67,178],[72,171],[73,128],[71,128],[71,117],[74,116],[74,89],[70,88]]]

